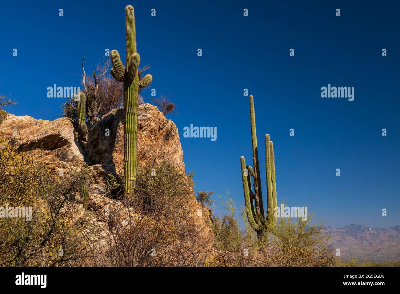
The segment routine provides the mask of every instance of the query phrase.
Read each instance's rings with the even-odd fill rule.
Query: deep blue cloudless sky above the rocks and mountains
[[[65,100],[47,98],[46,88],[79,86],[83,56],[87,72],[106,48],[124,60],[124,7],[131,4],[141,65],[151,65],[157,96],[170,95],[178,107],[168,118],[179,129],[197,190],[229,190],[238,208],[244,202],[239,158],[252,159],[247,88],[254,96],[264,196],[268,133],[278,201],[308,206],[316,220],[335,227],[399,225],[400,5],[359,3],[2,1],[0,93],[19,102],[8,112],[58,118]],[[354,101],[321,98],[328,84],[354,86]],[[150,100],[150,90],[143,96]],[[183,138],[190,124],[216,126],[217,140]]]

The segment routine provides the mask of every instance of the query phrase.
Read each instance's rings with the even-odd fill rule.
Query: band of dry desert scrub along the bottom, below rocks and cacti
[[[28,266],[328,266],[334,264],[320,227],[281,220],[264,239],[235,218],[235,204],[212,214],[212,231],[190,215],[187,177],[163,162],[138,169],[134,198],[122,176],[110,175],[103,211],[85,210],[79,187],[93,182],[90,168],[62,176],[2,142],[2,205],[31,206],[32,220],[1,218],[0,264]],[[153,174],[153,175],[152,175]],[[155,176],[154,176],[155,174]],[[210,192],[206,195],[212,195]],[[18,195],[15,197],[15,195]],[[209,197],[206,197],[209,198]],[[100,220],[100,221],[94,221]],[[244,222],[241,230],[239,222]]]

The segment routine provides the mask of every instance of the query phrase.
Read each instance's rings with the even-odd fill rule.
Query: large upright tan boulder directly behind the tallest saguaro
[[[108,136],[107,136],[108,135]],[[107,172],[124,171],[124,109],[116,108],[90,128],[84,148],[92,164]],[[153,166],[168,161],[184,173],[183,152],[178,129],[151,104],[138,109],[138,164]]]

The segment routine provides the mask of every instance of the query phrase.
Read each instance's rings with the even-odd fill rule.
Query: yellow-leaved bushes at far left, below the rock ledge
[[[87,219],[76,217],[82,206],[71,201],[80,178],[82,174],[74,171],[60,177],[0,142],[0,206],[31,209],[31,220],[0,218],[0,264],[54,266],[82,261],[91,226]]]

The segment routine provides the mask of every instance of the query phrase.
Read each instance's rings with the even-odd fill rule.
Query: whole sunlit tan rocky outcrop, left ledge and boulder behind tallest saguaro
[[[91,209],[99,212],[121,205],[118,200],[106,196],[104,179],[106,174],[123,174],[124,171],[123,108],[112,110],[89,126],[86,142],[78,141],[68,118],[49,121],[12,114],[2,122],[0,138],[17,146],[19,152],[40,156],[42,162],[53,169],[91,166],[96,172],[96,182],[89,187]],[[138,164],[151,167],[163,161],[184,174],[178,129],[156,106],[141,104],[138,109]],[[210,210],[202,208],[194,194],[190,195],[188,208],[190,222],[204,226],[206,235],[212,234]]]

